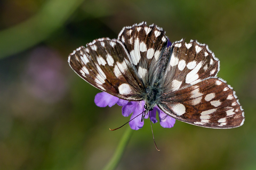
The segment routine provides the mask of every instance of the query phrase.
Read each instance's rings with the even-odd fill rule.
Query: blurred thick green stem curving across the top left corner
[[[27,21],[0,31],[0,59],[45,40],[59,29],[84,0],[48,0]]]

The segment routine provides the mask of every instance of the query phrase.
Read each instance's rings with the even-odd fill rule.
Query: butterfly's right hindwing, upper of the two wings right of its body
[[[168,91],[189,87],[219,71],[219,59],[207,45],[183,39],[172,44],[170,62],[167,63],[163,86]]]

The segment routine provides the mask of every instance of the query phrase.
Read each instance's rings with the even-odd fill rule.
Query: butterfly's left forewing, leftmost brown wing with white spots
[[[101,38],[69,55],[70,67],[92,86],[125,100],[142,100],[141,84],[121,41]]]

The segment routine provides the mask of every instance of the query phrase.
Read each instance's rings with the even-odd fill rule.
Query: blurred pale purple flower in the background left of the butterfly
[[[34,49],[22,76],[29,94],[45,103],[55,103],[62,99],[67,91],[63,63],[60,55],[53,49]]]

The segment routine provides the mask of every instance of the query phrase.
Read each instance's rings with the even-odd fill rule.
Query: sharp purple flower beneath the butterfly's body
[[[133,113],[131,116],[131,120],[134,117],[141,114],[143,111],[145,111],[145,109],[144,109],[145,101],[143,101],[143,100],[142,101],[127,101],[127,100],[119,99],[118,97],[109,95],[106,92],[98,93],[94,98],[94,103],[99,107],[106,107],[106,106],[112,107],[115,104],[117,104],[119,106],[123,106],[122,107],[123,116],[127,117],[131,113]],[[158,112],[158,115],[159,115],[160,125],[163,126],[163,128],[172,128],[175,123],[175,119],[170,117],[169,115],[166,115],[157,106],[155,106],[152,111],[149,111],[149,113],[144,118],[148,118],[148,116],[150,114],[150,120],[153,123],[156,123],[157,122],[156,111]],[[144,121],[141,122],[141,116],[138,116],[138,117],[134,118],[131,122],[129,122],[129,124],[130,124],[131,129],[138,130],[138,129],[142,128]]]

